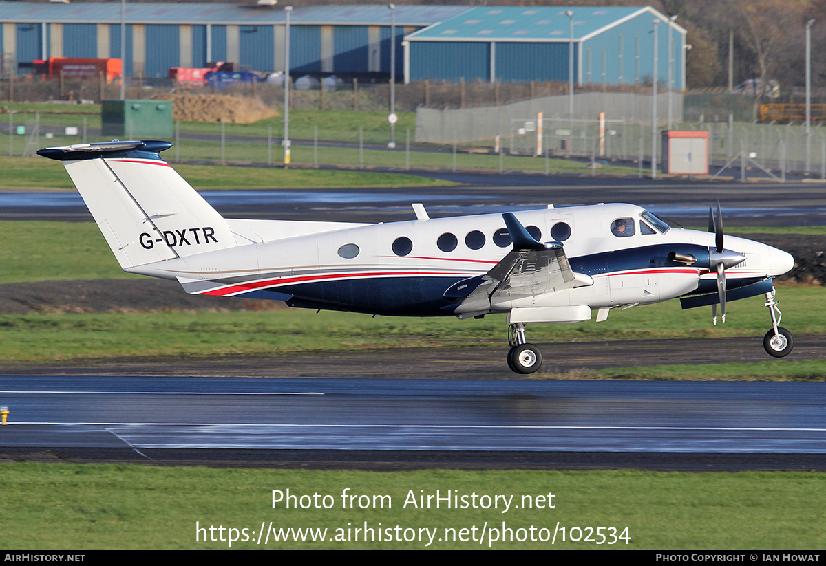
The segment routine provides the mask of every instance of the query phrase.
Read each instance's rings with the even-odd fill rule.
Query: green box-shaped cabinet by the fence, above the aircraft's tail
[[[172,101],[105,100],[101,126],[101,135],[121,139],[171,138]]]

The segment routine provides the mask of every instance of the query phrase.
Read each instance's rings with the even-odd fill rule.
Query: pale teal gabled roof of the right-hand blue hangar
[[[409,41],[569,41],[573,13],[573,38],[591,36],[619,26],[645,12],[668,21],[651,7],[474,7],[406,36]],[[679,31],[683,28],[676,26]]]

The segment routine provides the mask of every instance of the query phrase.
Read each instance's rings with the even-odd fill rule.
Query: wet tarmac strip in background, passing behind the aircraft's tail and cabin
[[[404,173],[397,173],[403,175]],[[651,181],[634,177],[420,172],[463,186],[341,188],[321,191],[202,191],[229,218],[390,222],[413,219],[410,203],[431,217],[500,213],[556,206],[629,202],[685,225],[704,225],[720,200],[729,225],[826,223],[822,182]],[[92,220],[74,191],[0,192],[0,219]]]

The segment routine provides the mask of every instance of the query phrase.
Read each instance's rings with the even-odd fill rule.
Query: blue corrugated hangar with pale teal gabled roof
[[[667,80],[670,35],[672,85],[681,89],[686,30],[652,7],[473,7],[406,35],[405,82],[567,83],[572,48],[577,85],[650,83],[655,28],[657,77]]]

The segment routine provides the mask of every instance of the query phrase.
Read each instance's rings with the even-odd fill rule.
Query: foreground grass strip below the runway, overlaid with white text
[[[244,534],[249,538],[236,540],[232,549],[733,550],[826,545],[821,504],[826,498],[826,475],[814,473],[439,469],[374,473],[19,463],[0,464],[0,488],[14,493],[4,501],[0,545],[20,550],[229,549],[229,528],[238,530],[239,539]],[[304,498],[305,504],[317,493],[319,507],[330,496],[326,503],[332,507],[315,508],[312,503],[310,508],[287,509],[284,502],[277,502],[273,508],[273,489],[285,495],[289,489],[298,498],[310,496]],[[345,489],[356,496],[354,508],[349,502],[343,508]],[[446,492],[467,496],[468,508],[446,509],[443,502],[436,509],[434,498],[427,508],[427,496],[434,496],[437,489],[443,498]],[[548,493],[553,493],[553,508],[546,508]],[[359,500],[363,495],[368,497]],[[374,495],[389,496],[383,499],[383,509],[378,507],[382,500],[373,499]],[[425,496],[424,508],[414,507],[409,499],[415,497],[418,503],[420,495]],[[513,496],[506,512],[502,499],[498,508],[481,507],[488,502],[482,496],[496,495]],[[359,508],[359,501],[369,508]],[[462,500],[458,502],[461,506]],[[200,542],[196,521],[207,529],[200,533]],[[264,545],[265,537],[258,544],[262,521],[265,531],[271,522],[276,533],[283,532],[289,540],[275,542],[271,531],[268,544]],[[374,533],[379,523],[382,530],[391,529],[393,540],[383,540],[388,533],[382,531],[381,542],[363,542],[363,532],[354,541],[354,529],[365,523]],[[503,523],[512,529],[513,542]],[[560,534],[553,545],[539,540],[550,538],[557,524],[566,529],[565,541]],[[210,526],[216,527],[216,542],[203,541],[205,534],[211,538]],[[224,531],[218,531],[218,526]],[[498,532],[486,531],[482,537],[483,526]],[[572,533],[572,527],[582,534],[577,529]],[[593,529],[594,542],[584,540],[589,535],[586,527]],[[597,545],[601,540],[597,527],[615,527],[616,535],[627,528],[629,543]],[[326,530],[325,541],[292,540],[295,531],[288,530],[298,528]],[[423,531],[419,540],[419,529],[425,528],[434,533],[430,545]],[[414,540],[396,540],[405,534]],[[463,534],[465,542],[459,540]],[[337,535],[344,540],[335,540]],[[572,535],[583,540],[572,541]],[[221,536],[224,541],[218,540]]]

